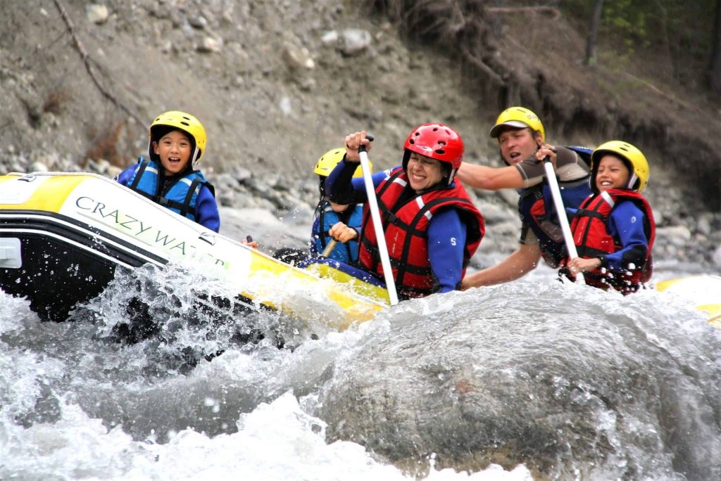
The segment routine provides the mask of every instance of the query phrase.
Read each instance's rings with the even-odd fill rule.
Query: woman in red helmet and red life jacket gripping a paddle
[[[345,138],[345,157],[329,174],[326,193],[340,204],[365,204],[358,264],[382,277],[363,179],[353,179],[361,145],[371,150],[365,131]],[[461,136],[450,127],[421,125],[405,141],[402,165],[373,175],[401,299],[458,289],[483,238],[483,217],[461,182],[454,179],[463,150]],[[331,230],[330,234],[336,233]]]

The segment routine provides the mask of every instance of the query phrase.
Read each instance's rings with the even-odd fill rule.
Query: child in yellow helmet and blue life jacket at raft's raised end
[[[195,167],[205,153],[205,128],[191,114],[172,110],[160,114],[149,129],[148,158],[122,171],[117,181],[218,232],[215,189]]]

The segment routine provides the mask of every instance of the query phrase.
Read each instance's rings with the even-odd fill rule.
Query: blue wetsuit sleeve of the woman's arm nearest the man
[[[466,224],[454,208],[433,215],[428,225],[428,259],[438,292],[458,289],[466,248]]]

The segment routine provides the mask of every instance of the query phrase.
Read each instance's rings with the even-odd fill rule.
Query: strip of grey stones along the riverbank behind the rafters
[[[113,177],[120,168],[107,161],[88,161],[81,168],[70,158],[48,155],[29,158],[22,153],[6,153],[0,158],[0,171],[89,171]],[[216,187],[221,210],[221,233],[230,238],[252,235],[260,249],[272,254],[278,248],[304,248],[309,238],[313,211],[318,202],[317,181],[311,167],[308,175],[257,174],[236,167],[208,174]],[[655,265],[681,264],[686,271],[721,271],[721,214],[692,215],[679,204],[672,189],[664,196],[651,197],[658,224],[654,248]],[[472,263],[472,269],[495,264],[512,252],[518,243],[520,221],[516,212],[517,194],[511,190],[472,192],[486,221],[486,237]],[[681,212],[685,215],[673,215]]]

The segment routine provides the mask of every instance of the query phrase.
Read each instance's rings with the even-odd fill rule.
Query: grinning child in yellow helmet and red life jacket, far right
[[[650,279],[656,225],[641,192],[649,177],[641,150],[611,140],[593,150],[593,196],[580,205],[571,223],[578,257],[561,269],[570,279],[584,272],[585,283],[630,294]]]

